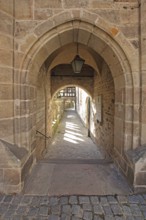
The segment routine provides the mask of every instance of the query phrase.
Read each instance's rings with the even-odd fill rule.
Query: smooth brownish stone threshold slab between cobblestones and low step
[[[125,178],[113,163],[38,163],[24,187],[29,195],[129,194]]]

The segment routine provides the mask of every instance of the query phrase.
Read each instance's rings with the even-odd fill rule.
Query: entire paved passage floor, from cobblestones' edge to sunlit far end
[[[131,192],[123,176],[87,137],[74,111],[67,111],[46,157],[33,169],[28,195],[107,195]]]

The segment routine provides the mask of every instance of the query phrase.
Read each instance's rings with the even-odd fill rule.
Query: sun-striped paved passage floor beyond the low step
[[[45,158],[104,159],[104,153],[87,136],[87,129],[76,112],[68,110],[64,113]]]

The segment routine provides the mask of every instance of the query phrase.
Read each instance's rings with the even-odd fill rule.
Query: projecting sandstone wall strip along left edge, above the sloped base
[[[0,138],[14,143],[13,2],[0,1],[0,17]]]

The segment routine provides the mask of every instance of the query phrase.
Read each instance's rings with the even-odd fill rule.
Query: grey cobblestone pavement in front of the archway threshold
[[[128,196],[0,195],[1,220],[142,220],[146,194]]]

